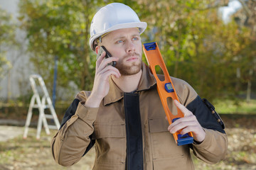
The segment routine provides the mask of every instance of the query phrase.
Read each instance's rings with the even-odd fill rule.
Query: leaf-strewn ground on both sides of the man
[[[228,154],[225,160],[210,165],[193,157],[196,169],[256,169],[256,116],[222,116],[228,134]],[[0,127],[1,128],[1,127]],[[23,130],[23,128],[21,128]],[[31,128],[28,138],[18,135],[7,141],[0,142],[1,170],[58,170],[58,169],[92,169],[95,159],[94,148],[82,157],[78,164],[63,167],[56,164],[50,154],[50,140],[56,130],[50,135],[44,131],[41,139],[36,140],[36,129]]]

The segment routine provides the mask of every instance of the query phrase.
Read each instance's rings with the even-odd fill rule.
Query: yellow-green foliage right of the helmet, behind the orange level
[[[254,64],[250,44],[255,43],[247,38],[248,29],[235,22],[223,23],[218,6],[210,0],[142,4],[148,11],[142,18],[149,25],[146,39],[158,42],[171,76],[188,81],[210,100],[239,94],[239,84],[244,85],[242,79],[252,68],[248,66]],[[242,79],[236,75],[238,68]]]

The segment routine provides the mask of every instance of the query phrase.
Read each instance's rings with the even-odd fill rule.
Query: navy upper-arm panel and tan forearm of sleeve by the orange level
[[[193,144],[193,153],[208,164],[215,164],[224,159],[228,150],[228,137],[210,109],[199,96],[188,103],[186,108],[196,115],[198,122],[206,132],[206,138],[201,144]]]

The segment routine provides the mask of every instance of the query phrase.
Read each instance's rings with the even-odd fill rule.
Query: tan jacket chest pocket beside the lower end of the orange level
[[[177,158],[188,155],[188,146],[177,146],[174,136],[168,131],[165,118],[149,119],[152,157],[154,160]]]

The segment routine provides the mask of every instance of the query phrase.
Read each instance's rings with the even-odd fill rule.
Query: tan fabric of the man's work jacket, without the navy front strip
[[[167,130],[169,124],[156,90],[156,80],[149,67],[143,64],[142,78],[135,93],[139,94],[144,169],[194,169],[190,148],[204,162],[219,162],[227,151],[228,140],[225,132],[221,132],[214,118],[210,120],[209,116],[212,115],[206,115],[210,113],[196,113],[200,110],[197,108],[200,107],[199,104],[195,103],[198,94],[189,84],[181,79],[171,79],[180,102],[184,106],[190,105],[198,120],[201,120],[206,138],[199,145],[176,145],[173,135]],[[94,170],[124,170],[127,157],[124,92],[110,79],[110,92],[99,108],[84,106],[89,95],[90,91],[80,91],[75,99],[78,101],[76,106],[73,103],[70,113],[66,113],[72,117],[63,122],[62,128],[53,137],[51,150],[55,162],[63,166],[75,164],[93,141],[96,151]],[[176,112],[174,103],[170,102],[169,108],[172,113]],[[210,124],[206,123],[208,121]]]

